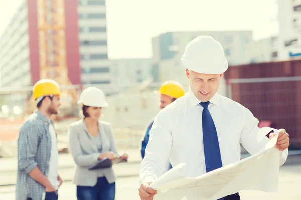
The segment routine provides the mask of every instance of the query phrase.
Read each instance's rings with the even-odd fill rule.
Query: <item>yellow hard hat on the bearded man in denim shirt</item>
[[[50,95],[60,95],[60,85],[51,79],[42,79],[36,82],[33,88],[34,99],[50,96]]]

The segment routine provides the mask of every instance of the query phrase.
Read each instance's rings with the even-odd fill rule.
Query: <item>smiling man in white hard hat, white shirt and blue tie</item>
[[[257,141],[258,120],[250,110],[217,93],[222,74],[228,68],[219,42],[209,36],[195,38],[186,46],[182,62],[190,89],[155,118],[141,163],[142,200],[153,199],[156,191],[149,185],[163,174],[167,159],[172,166],[185,163],[185,176],[196,177],[239,161],[240,144],[255,154],[269,140],[266,137]],[[282,165],[289,146],[284,129],[280,129],[276,146]],[[221,199],[234,200],[240,196],[229,194]]]

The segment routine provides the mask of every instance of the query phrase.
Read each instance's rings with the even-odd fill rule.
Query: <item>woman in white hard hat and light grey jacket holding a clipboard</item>
[[[114,200],[116,177],[112,167],[89,170],[101,159],[119,156],[111,125],[99,120],[102,108],[108,106],[104,93],[89,87],[81,93],[78,103],[82,104],[84,119],[68,129],[69,148],[76,163],[73,182],[77,185],[77,199]],[[120,158],[127,159],[128,155],[123,153]]]

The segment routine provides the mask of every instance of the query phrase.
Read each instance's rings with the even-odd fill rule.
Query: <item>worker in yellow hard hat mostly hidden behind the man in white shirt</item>
[[[167,105],[171,104],[174,102],[177,98],[182,97],[185,94],[184,87],[176,82],[176,81],[166,81],[165,83],[162,84],[160,87],[160,109],[165,108]],[[154,119],[150,121],[149,125],[146,128],[145,135],[142,137],[142,142],[141,142],[141,156],[142,159],[145,156],[145,148],[149,140],[149,131],[152,129],[152,125],[154,123]],[[171,165],[168,162],[168,168],[170,169]]]

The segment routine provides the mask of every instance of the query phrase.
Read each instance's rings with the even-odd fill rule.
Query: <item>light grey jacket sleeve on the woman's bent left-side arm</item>
[[[92,153],[89,155],[84,155],[80,146],[80,141],[78,138],[78,132],[74,130],[72,126],[68,128],[69,135],[69,149],[74,159],[74,162],[78,166],[91,166],[98,162],[98,157],[100,153]]]

